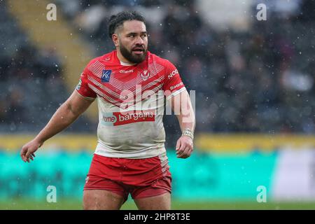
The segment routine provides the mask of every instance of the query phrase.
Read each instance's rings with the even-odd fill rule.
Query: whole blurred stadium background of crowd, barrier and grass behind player
[[[57,20],[48,21],[48,3]],[[258,21],[258,3],[267,20]],[[81,209],[96,146],[97,107],[25,164],[19,151],[113,49],[107,20],[148,20],[149,50],[196,90],[195,153],[165,116],[173,209],[315,209],[315,1],[0,1],[0,209]],[[48,203],[47,187],[57,188]],[[258,202],[266,190],[267,202]],[[124,209],[135,209],[131,200]]]

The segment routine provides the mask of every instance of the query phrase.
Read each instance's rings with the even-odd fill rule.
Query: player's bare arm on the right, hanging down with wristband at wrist
[[[188,92],[185,90],[176,94],[171,99],[174,111],[183,135],[176,143],[176,154],[178,158],[188,158],[193,152],[193,133],[195,131],[195,112],[191,104]]]

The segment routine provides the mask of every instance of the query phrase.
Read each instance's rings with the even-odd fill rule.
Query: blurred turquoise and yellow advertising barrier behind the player
[[[7,148],[4,144],[0,146],[2,200],[18,197],[43,201],[50,192],[48,186],[56,188],[57,198],[82,198],[92,160],[93,148],[90,146],[94,144],[94,137],[60,136],[54,141],[49,140],[29,164],[22,162],[17,150],[25,137],[11,137],[0,138],[1,143],[5,138],[6,142],[11,142],[12,147]],[[214,137],[209,137],[211,138]],[[217,138],[218,142],[222,139],[237,142],[237,136],[234,135]],[[303,144],[301,138],[304,138]],[[85,140],[83,147],[78,147],[80,139]],[[244,137],[238,139],[243,142],[243,151],[235,150],[236,148],[222,150],[219,144],[214,144],[207,150],[195,148],[193,155],[186,160],[176,158],[174,149],[168,148],[167,155],[173,175],[172,197],[179,201],[193,202],[256,202],[261,193],[264,193],[264,198],[268,201],[315,200],[314,138],[269,136],[274,148],[260,147],[264,146],[262,142],[266,141],[266,136],[259,139],[258,136],[248,135],[248,139],[251,141],[247,143],[244,143]],[[262,144],[249,149],[254,140]]]

